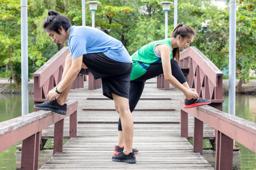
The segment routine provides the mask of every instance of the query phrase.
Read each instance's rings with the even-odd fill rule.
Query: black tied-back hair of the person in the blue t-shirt
[[[67,31],[70,26],[71,22],[68,17],[52,10],[48,11],[48,17],[44,20],[44,29],[55,31],[57,34],[60,34],[60,27]]]

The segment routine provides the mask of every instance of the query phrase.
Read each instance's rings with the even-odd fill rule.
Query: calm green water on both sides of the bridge
[[[228,112],[228,96],[224,96],[223,111]],[[21,116],[21,97],[0,95],[0,122]],[[29,96],[29,113],[33,111],[33,96]],[[256,123],[256,96],[236,96],[236,116]],[[19,143],[20,144],[20,143]],[[17,145],[19,145],[17,144]],[[256,153],[237,143],[241,148],[241,169],[256,170]],[[0,153],[0,169],[15,169],[16,145]]]

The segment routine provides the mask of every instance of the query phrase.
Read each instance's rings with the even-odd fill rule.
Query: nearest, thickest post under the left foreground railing
[[[38,169],[39,148],[40,132],[22,141],[20,169]]]

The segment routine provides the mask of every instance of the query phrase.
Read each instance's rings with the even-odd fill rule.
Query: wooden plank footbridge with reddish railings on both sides
[[[35,103],[60,82],[67,53],[63,48],[34,74]],[[233,139],[256,152],[256,124],[220,111],[222,73],[195,47],[182,52],[180,67],[190,87],[212,104],[184,109],[182,93],[163,76],[148,80],[132,113],[136,164],[112,162],[118,114],[113,101],[102,96],[100,80],[86,70],[68,95],[66,116],[36,111],[1,122],[0,152],[23,140],[21,169],[38,169],[40,138],[54,138],[54,155],[40,169],[213,169],[202,157],[202,139],[208,138],[216,143],[215,169],[232,169]],[[63,136],[69,139],[65,145]]]

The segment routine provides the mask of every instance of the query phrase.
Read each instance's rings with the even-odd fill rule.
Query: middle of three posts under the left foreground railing
[[[62,152],[63,126],[64,126],[64,119],[61,119],[60,121],[54,124],[53,155],[57,152]]]

